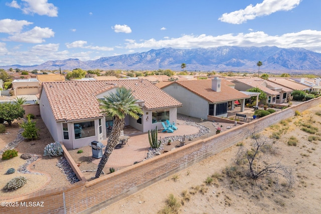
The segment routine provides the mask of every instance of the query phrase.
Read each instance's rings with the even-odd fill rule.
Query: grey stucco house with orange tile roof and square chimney
[[[251,97],[234,89],[234,83],[218,77],[179,80],[162,89],[183,103],[178,113],[204,119],[208,115],[227,117],[227,111],[234,109],[234,101],[239,99],[243,112],[245,99]]]

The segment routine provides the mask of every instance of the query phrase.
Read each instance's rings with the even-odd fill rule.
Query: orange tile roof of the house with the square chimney
[[[176,83],[213,103],[249,98],[244,93],[230,87],[230,85],[234,84],[224,79],[221,79],[220,92],[212,90],[211,79],[179,80]]]

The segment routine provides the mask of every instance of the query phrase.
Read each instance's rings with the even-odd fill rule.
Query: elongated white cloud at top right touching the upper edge
[[[245,9],[223,14],[219,20],[230,24],[242,24],[256,17],[268,16],[278,11],[289,11],[300,4],[302,0],[263,0],[255,6],[249,5]]]

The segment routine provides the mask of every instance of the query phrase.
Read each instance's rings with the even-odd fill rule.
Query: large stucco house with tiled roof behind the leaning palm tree
[[[45,82],[39,97],[40,113],[54,140],[71,149],[106,139],[112,118],[101,114],[97,99],[104,99],[119,86],[132,89],[143,111],[138,120],[126,116],[125,126],[147,132],[156,126],[160,129],[166,120],[176,122],[182,103],[147,80]]]

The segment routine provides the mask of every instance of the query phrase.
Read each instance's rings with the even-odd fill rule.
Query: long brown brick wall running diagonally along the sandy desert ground
[[[68,187],[6,200],[44,201],[45,207],[0,207],[0,212],[91,213],[236,144],[248,137],[254,128],[261,131],[293,117],[295,111],[302,112],[318,105],[320,100],[321,97],[308,100],[92,181],[79,181]]]

